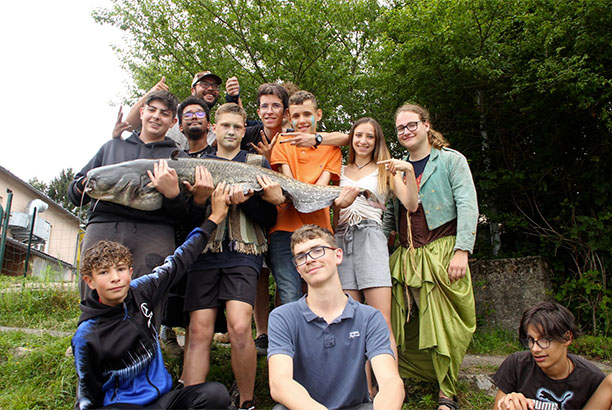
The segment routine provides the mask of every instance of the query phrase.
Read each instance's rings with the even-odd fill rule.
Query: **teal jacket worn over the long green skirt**
[[[404,160],[408,160],[408,154]],[[465,157],[450,148],[431,149],[431,154],[419,191],[429,230],[436,229],[457,218],[455,249],[470,253],[474,250],[478,223],[478,200],[472,173]],[[383,216],[383,230],[399,232],[400,203],[397,198],[387,202]]]

